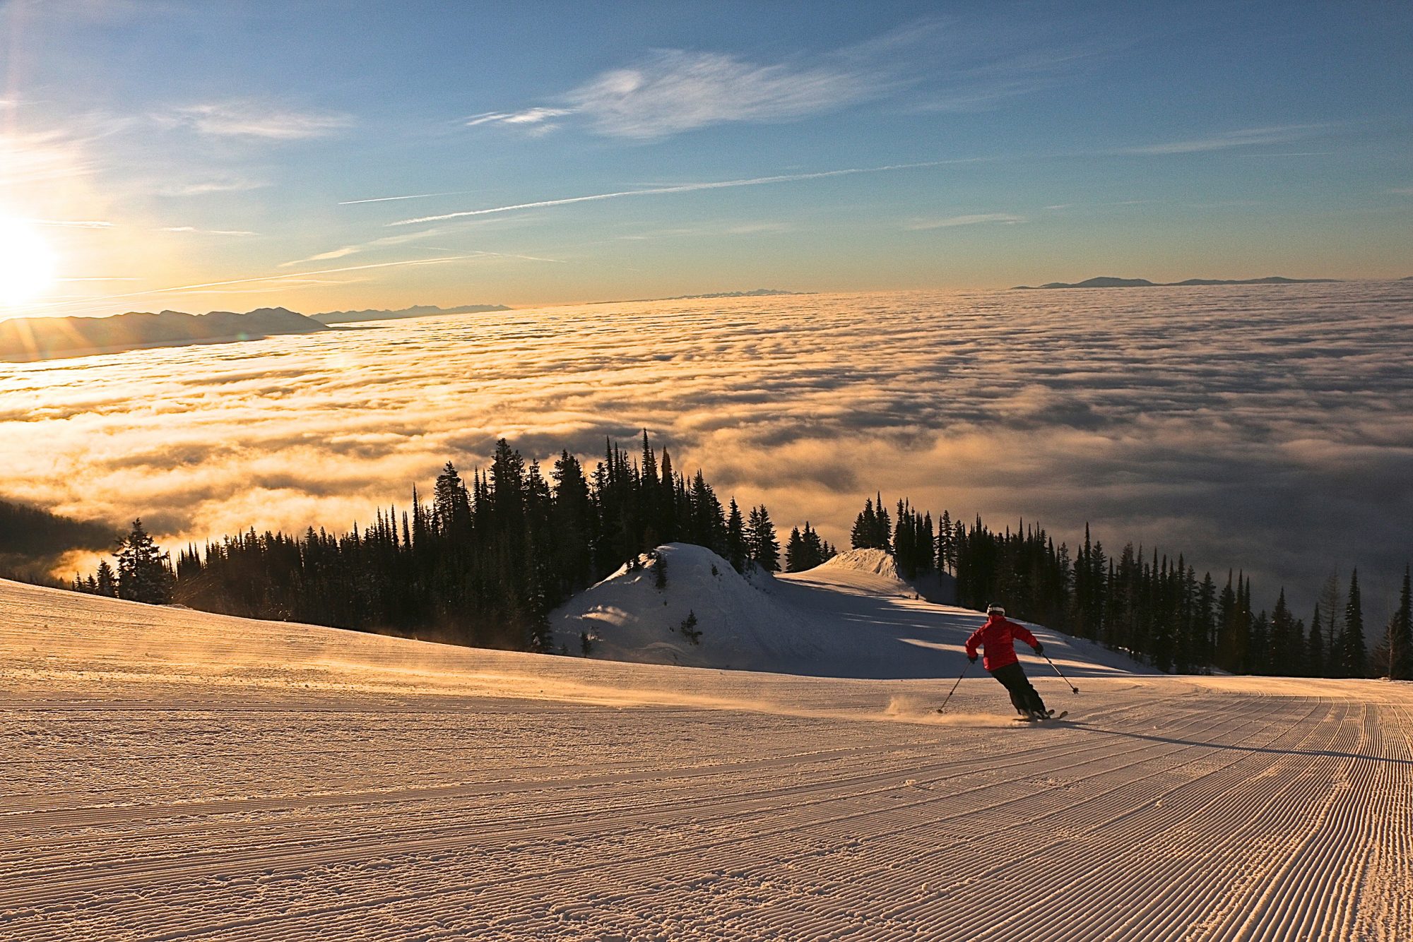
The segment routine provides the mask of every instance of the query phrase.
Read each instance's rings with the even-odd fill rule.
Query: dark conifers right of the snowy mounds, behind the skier
[[[1072,554],[1023,521],[996,532],[981,517],[954,523],[944,511],[934,532],[930,513],[899,501],[892,525],[882,500],[866,501],[853,523],[852,545],[890,549],[899,571],[916,578],[952,573],[957,603],[999,603],[1012,616],[1122,650],[1161,671],[1218,668],[1232,674],[1284,676],[1413,676],[1413,614],[1409,573],[1397,610],[1381,626],[1368,652],[1358,572],[1341,592],[1331,578],[1307,626],[1280,590],[1270,612],[1252,609],[1251,579],[1228,572],[1219,585],[1178,554],[1159,555],[1126,544],[1118,558],[1091,539]]]

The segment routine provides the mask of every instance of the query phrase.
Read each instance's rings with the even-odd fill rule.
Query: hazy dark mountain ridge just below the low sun
[[[0,360],[27,363],[150,346],[256,340],[278,333],[328,329],[314,318],[284,308],[257,308],[247,314],[129,311],[112,318],[11,318],[0,321]]]

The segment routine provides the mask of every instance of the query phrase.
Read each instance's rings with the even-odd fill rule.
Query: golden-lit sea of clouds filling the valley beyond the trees
[[[1308,607],[1413,556],[1413,284],[557,306],[0,364],[0,496],[170,545],[348,528],[469,470],[642,428],[787,532],[866,496],[1088,521]],[[1308,612],[1303,612],[1308,617]]]

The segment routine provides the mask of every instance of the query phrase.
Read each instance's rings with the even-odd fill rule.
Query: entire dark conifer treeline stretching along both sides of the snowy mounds
[[[448,463],[432,500],[379,511],[342,535],[257,532],[188,547],[175,565],[141,523],[75,588],[208,612],[417,634],[480,647],[544,651],[548,614],[571,595],[663,542],[706,547],[738,571],[811,569],[835,555],[814,527],[793,528],[781,551],[764,506],[722,507],[698,470],[673,469],[643,434],[637,455],[605,445],[592,472],[567,451],[548,477],[504,439],[471,482]],[[1304,676],[1413,675],[1409,573],[1385,626],[1364,624],[1358,572],[1331,578],[1308,623],[1282,589],[1273,610],[1252,607],[1251,579],[1201,576],[1184,555],[1126,544],[1118,556],[1092,541],[1071,554],[1023,521],[993,531],[907,501],[889,513],[865,503],[851,545],[894,555],[917,579],[955,578],[957,602],[1005,604],[1012,616],[1121,650],[1163,671]],[[1373,641],[1372,651],[1368,641]]]

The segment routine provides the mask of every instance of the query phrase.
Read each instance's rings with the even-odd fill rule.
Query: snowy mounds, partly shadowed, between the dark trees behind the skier
[[[656,558],[654,558],[656,556]],[[666,580],[658,566],[666,565]],[[666,585],[660,585],[666,582]],[[695,617],[692,641],[682,623]],[[933,604],[879,549],[841,554],[808,572],[739,575],[690,544],[667,544],[575,596],[551,616],[555,644],[640,664],[680,664],[815,676],[957,676],[962,645],[983,621],[969,609]],[[1150,674],[1135,661],[1036,627],[1047,654],[1074,676]],[[1026,655],[1031,671],[1050,671]]]

